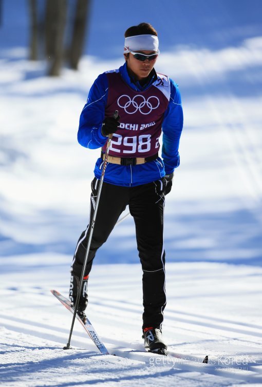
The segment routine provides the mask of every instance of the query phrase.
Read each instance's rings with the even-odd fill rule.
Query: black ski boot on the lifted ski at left
[[[86,322],[86,314],[84,310],[87,307],[87,280],[88,280],[88,275],[84,277],[83,280],[83,285],[80,293],[80,298],[79,298],[79,303],[78,303],[78,314],[83,320],[83,322]],[[80,286],[80,278],[71,272],[71,277],[70,277],[70,290],[69,290],[69,300],[71,301],[71,306],[74,308],[74,305],[76,304],[77,301],[77,295],[79,291],[79,286]]]

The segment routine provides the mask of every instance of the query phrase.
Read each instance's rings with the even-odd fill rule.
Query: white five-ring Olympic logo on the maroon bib
[[[159,107],[160,101],[157,97],[151,96],[145,100],[145,97],[141,94],[135,95],[131,99],[128,95],[121,95],[117,104],[120,108],[124,109],[127,114],[134,114],[138,110],[141,114],[150,114],[152,110],[155,110]]]

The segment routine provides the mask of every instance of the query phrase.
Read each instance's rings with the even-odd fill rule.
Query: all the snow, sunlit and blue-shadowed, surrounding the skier
[[[135,7],[128,22],[119,17],[111,26],[109,50],[98,44],[107,13],[97,23],[93,2],[79,72],[51,79],[44,63],[27,60],[26,5],[15,0],[11,17],[13,2],[3,2],[0,29],[1,385],[262,385],[260,3],[163,1],[158,17],[150,11],[165,41],[156,69],[179,83],[185,115],[165,211],[163,335],[173,357],[161,358],[143,351],[130,216],[98,252],[88,284],[88,318],[110,355],[99,354],[78,322],[73,349],[62,349],[72,315],[50,293],[68,293],[99,155],[77,143],[79,114],[98,74],[122,64],[123,31],[140,22]],[[172,18],[161,22],[164,6],[178,15],[176,40]],[[201,363],[205,355],[209,364]]]

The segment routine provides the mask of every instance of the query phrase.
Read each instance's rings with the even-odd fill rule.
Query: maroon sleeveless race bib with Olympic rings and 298
[[[162,74],[145,91],[131,89],[118,70],[108,72],[105,117],[120,115],[120,127],[113,134],[109,154],[118,157],[148,157],[159,150],[164,112],[170,99],[170,81]],[[102,148],[105,152],[106,145]]]

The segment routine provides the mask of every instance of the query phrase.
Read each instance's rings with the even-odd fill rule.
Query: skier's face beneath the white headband
[[[148,50],[142,50],[142,51],[136,51],[138,54],[144,54],[144,55],[152,55],[156,54],[155,51],[148,51]],[[152,71],[152,68],[154,67],[156,63],[156,59],[149,61],[146,59],[144,62],[136,59],[131,52],[129,52],[128,58],[126,60],[126,64],[128,69],[136,76],[136,78],[140,81],[143,78],[146,78],[149,73]]]

